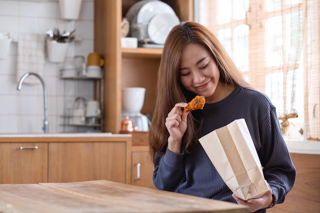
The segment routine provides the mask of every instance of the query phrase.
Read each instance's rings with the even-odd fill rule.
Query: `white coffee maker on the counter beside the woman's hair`
[[[122,121],[129,118],[134,131],[148,131],[148,117],[140,111],[145,100],[146,88],[126,87],[122,89]]]

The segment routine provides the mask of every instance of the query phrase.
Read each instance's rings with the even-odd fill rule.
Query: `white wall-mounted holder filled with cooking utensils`
[[[50,62],[64,62],[68,43],[59,43],[56,40],[47,39],[47,53]]]

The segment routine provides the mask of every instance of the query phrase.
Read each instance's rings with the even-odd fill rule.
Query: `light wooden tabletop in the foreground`
[[[107,180],[0,184],[0,212],[235,212],[245,206]]]

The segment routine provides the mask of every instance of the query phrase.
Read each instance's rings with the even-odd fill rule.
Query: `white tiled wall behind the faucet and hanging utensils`
[[[75,35],[81,39],[70,43],[66,60],[75,55],[86,57],[94,51],[94,0],[83,0],[78,20],[60,19],[58,1],[0,0],[0,32],[45,35],[50,28],[60,32],[76,29]],[[20,91],[16,89],[17,47],[17,42],[11,42],[7,58],[0,59],[0,134],[40,133],[44,119],[42,85],[40,81],[36,85],[24,83]],[[77,131],[61,125],[66,108],[74,107],[77,96],[93,99],[93,82],[59,79],[62,66],[45,59],[42,77],[48,90],[49,132]]]

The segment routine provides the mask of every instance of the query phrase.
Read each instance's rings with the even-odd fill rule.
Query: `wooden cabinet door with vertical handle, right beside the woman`
[[[152,181],[153,163],[149,158],[148,147],[141,147],[137,150],[136,147],[132,151],[132,166],[131,166],[131,184],[155,188]]]

